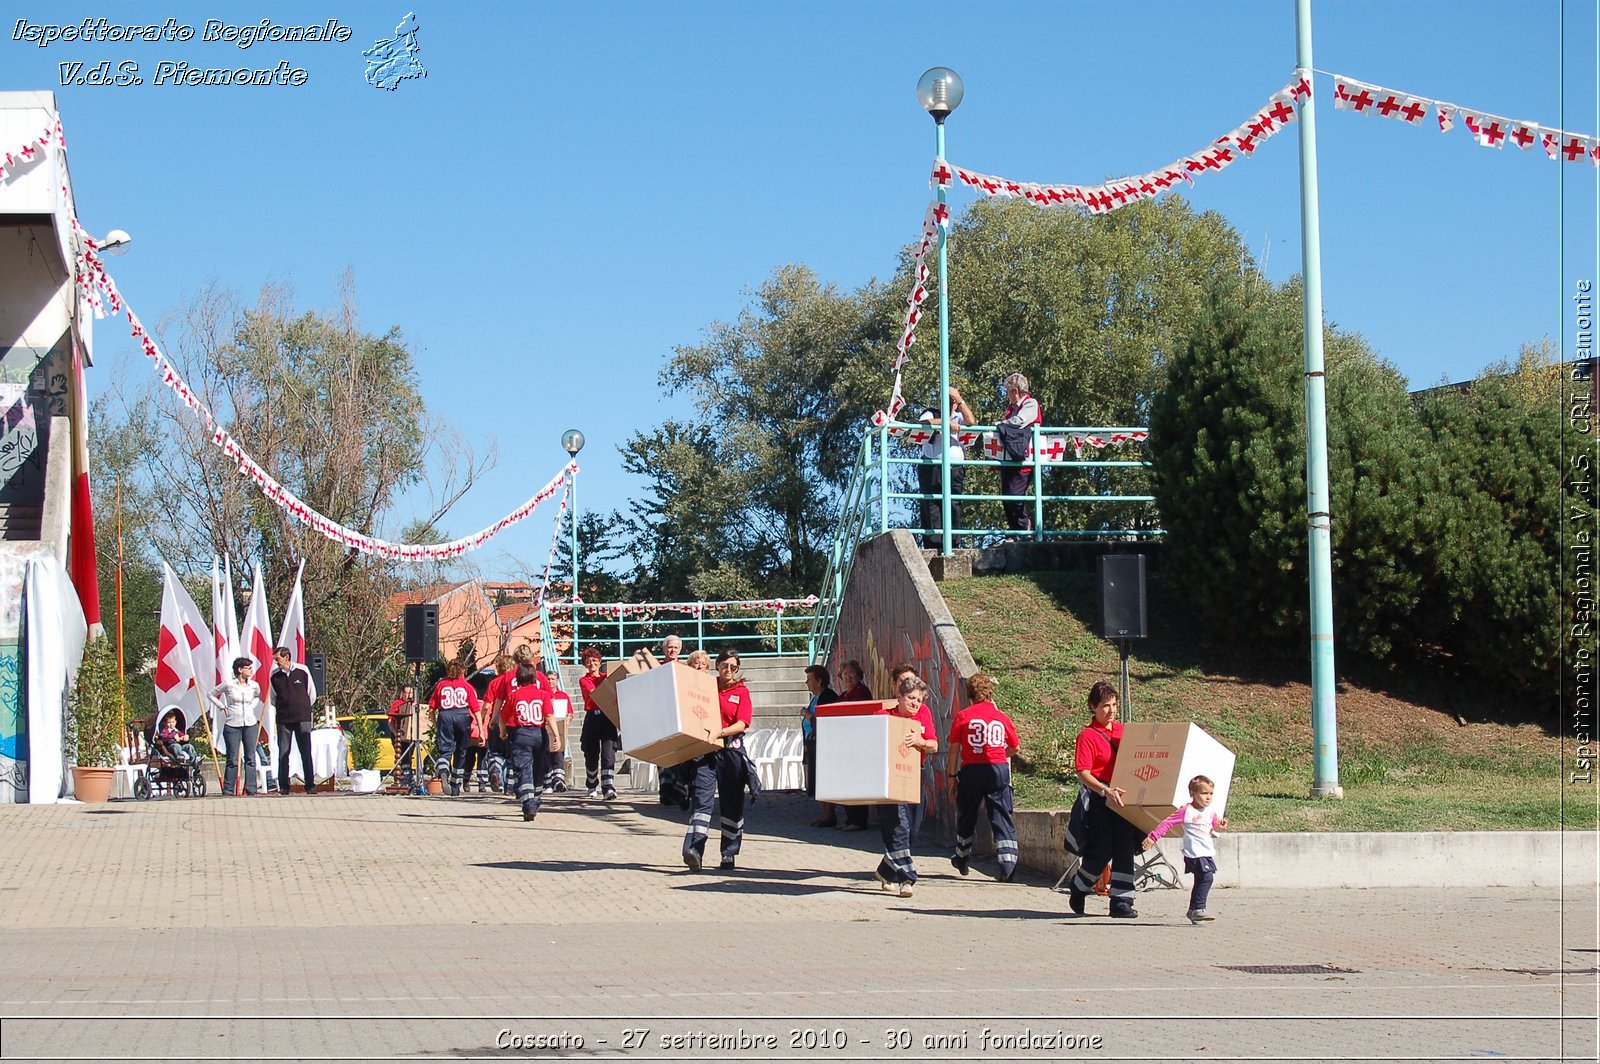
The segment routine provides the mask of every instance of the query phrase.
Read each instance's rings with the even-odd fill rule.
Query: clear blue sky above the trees
[[[362,50],[416,13],[424,80],[365,83]],[[16,19],[339,19],[347,43],[13,40]],[[1594,3],[1322,0],[1315,66],[1597,133]],[[1291,0],[1250,3],[274,3],[22,0],[0,26],[0,88],[53,90],[91,232],[147,322],[208,282],[293,285],[328,306],[355,272],[366,328],[398,325],[429,406],[493,474],[446,518],[472,531],[589,437],[581,502],[634,485],[616,448],[682,413],[658,394],[675,344],[731,318],[786,262],[854,286],[890,278],[928,200],[933,123],[917,77],[966,99],[949,157],[1021,181],[1093,184],[1206,146],[1294,67]],[[134,61],[139,86],[61,86],[61,62]],[[301,86],[157,86],[157,62],[307,72]],[[1474,376],[1541,336],[1571,347],[1573,285],[1595,278],[1597,171],[1488,150],[1331,106],[1317,78],[1325,302],[1414,386]],[[1293,130],[1186,189],[1267,272],[1301,269]],[[960,210],[970,194],[955,192]],[[898,283],[898,282],[896,282]],[[960,291],[952,293],[960,299]],[[917,346],[930,357],[933,333]],[[96,330],[91,389],[149,373],[120,320]],[[1019,352],[1026,368],[1026,352]],[[885,378],[883,392],[888,390]],[[882,402],[882,395],[874,397]],[[990,411],[979,411],[979,414]],[[248,445],[248,442],[245,442]],[[542,568],[550,518],[478,557]],[[389,517],[394,533],[410,514]]]

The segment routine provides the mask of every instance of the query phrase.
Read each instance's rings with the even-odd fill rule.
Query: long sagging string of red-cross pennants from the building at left
[[[45,126],[42,133],[27,139],[19,149],[0,154],[0,181],[6,181],[13,176],[19,165],[34,163],[42,157],[42,152],[48,149],[64,149],[67,144],[66,136],[61,128],[61,120],[56,118],[54,123]],[[66,182],[61,184],[61,202],[70,203],[70,192]],[[110,274],[106,272],[106,264],[99,258],[99,245],[90,237],[88,230],[78,222],[75,214],[67,216],[74,234],[78,237],[78,253],[75,256],[77,266],[77,283],[78,291],[83,296],[85,304],[94,312],[96,318],[104,318],[109,315],[115,317],[126,310],[128,330],[139,342],[144,355],[150,358],[162,384],[173,390],[174,395],[189,408],[190,413],[200,419],[206,430],[210,432],[211,443],[222,451],[222,454],[237,464],[240,475],[246,477],[254,483],[261,493],[275,502],[285,514],[294,520],[307,525],[309,528],[322,533],[328,539],[344,544],[360,550],[362,554],[373,554],[384,558],[398,558],[406,562],[421,560],[442,560],[461,557],[467,550],[477,550],[490,539],[498,536],[501,531],[510,528],[512,525],[525,520],[539,507],[541,502],[552,498],[557,490],[565,483],[566,490],[571,491],[571,480],[578,475],[578,462],[568,462],[558,474],[555,474],[549,483],[539,488],[533,498],[518,506],[515,510],[499,518],[493,525],[488,525],[470,536],[462,536],[459,539],[451,539],[448,542],[430,542],[430,544],[410,544],[410,542],[392,542],[387,539],[379,539],[376,536],[368,536],[355,528],[342,525],[326,514],[322,514],[309,502],[301,499],[294,491],[278,483],[272,474],[261,467],[254,458],[235,440],[211,413],[211,408],[200,398],[200,395],[189,387],[189,384],[178,373],[178,368],[166,358],[162,352],[160,344],[150,336],[149,330],[144,328],[144,322],[139,315],[133,312],[133,307],[126,306],[122,293],[117,290],[117,282],[112,280]],[[566,509],[566,499],[562,499],[562,509]],[[560,530],[560,523],[557,523]],[[552,546],[550,558],[554,562],[555,549]],[[546,566],[546,576],[549,576],[549,565]]]

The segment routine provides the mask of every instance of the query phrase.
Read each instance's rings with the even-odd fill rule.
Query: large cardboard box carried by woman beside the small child
[[[1234,752],[1213,739],[1200,725],[1123,725],[1117,746],[1117,768],[1110,786],[1122,787],[1122,808],[1112,811],[1149,832],[1189,803],[1189,781],[1210,776],[1214,787],[1211,806],[1227,814],[1227,789],[1234,779]]]

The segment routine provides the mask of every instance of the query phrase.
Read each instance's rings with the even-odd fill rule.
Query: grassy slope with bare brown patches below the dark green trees
[[[1117,651],[1090,627],[1093,574],[984,576],[941,587],[1022,734],[1018,805],[1067,806],[1090,685],[1117,682]],[[1238,755],[1227,808],[1234,830],[1595,827],[1592,784],[1563,795],[1558,734],[1496,723],[1496,704],[1480,694],[1403,677],[1382,677],[1382,690],[1341,683],[1344,800],[1310,800],[1309,667],[1208,645],[1173,630],[1181,627],[1174,614],[1152,587],[1154,634],[1134,645],[1130,662],[1133,718],[1192,720]],[[1557,710],[1552,704],[1547,714],[1552,726]]]

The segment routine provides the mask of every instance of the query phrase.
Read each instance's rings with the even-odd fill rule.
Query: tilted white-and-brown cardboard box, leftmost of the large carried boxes
[[[709,672],[682,661],[645,669],[618,682],[616,702],[629,757],[669,768],[722,749],[722,706]]]

